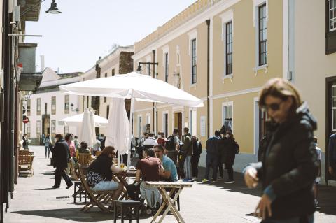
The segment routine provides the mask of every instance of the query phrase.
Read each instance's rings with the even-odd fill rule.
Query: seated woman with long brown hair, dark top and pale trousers
[[[118,200],[123,185],[118,182],[113,182],[112,173],[120,173],[123,170],[113,165],[113,158],[116,155],[113,146],[104,148],[102,154],[90,164],[87,168],[87,184],[92,191],[113,190],[112,199]]]

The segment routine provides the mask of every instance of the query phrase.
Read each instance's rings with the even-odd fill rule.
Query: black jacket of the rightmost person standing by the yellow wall
[[[235,162],[236,152],[239,148],[235,140],[232,138],[221,138],[218,141],[218,148],[224,164],[233,164]]]

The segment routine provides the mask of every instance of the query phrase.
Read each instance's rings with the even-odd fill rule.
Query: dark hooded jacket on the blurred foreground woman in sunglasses
[[[270,133],[262,162],[250,164],[257,168],[264,192],[271,188],[275,195],[273,219],[314,213],[312,185],[318,171],[314,130],[316,120],[303,103],[295,117]]]

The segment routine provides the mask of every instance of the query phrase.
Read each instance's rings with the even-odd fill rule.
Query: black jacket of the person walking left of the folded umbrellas
[[[69,146],[64,139],[57,141],[51,148],[52,159],[54,159],[54,167],[68,167]]]

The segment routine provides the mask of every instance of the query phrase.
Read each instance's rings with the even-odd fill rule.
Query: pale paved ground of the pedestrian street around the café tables
[[[62,180],[61,189],[51,189],[55,177],[54,168],[48,166],[50,159],[44,157],[44,147],[31,146],[34,151],[34,176],[18,178],[13,199],[10,201],[5,223],[20,222],[111,222],[111,213],[102,213],[92,208],[81,213],[83,203],[73,203],[73,187],[65,189]],[[201,175],[204,170],[201,169]],[[192,188],[186,188],[181,194],[181,215],[186,222],[225,223],[260,222],[251,216],[259,201],[260,189],[247,189],[241,174],[235,174],[236,183],[226,185],[223,180],[202,184],[194,182]],[[321,187],[321,213],[316,213],[315,222],[336,222],[336,188]],[[120,222],[120,220],[118,220]],[[134,221],[133,221],[134,222]],[[140,222],[151,222],[151,217]],[[164,222],[176,222],[174,215],[167,215]]]

